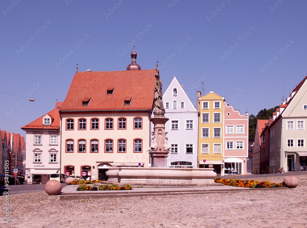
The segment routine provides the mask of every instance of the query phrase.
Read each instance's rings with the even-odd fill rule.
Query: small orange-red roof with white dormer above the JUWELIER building
[[[33,122],[23,126],[21,129],[59,129],[60,128],[60,108],[55,108],[48,112],[47,114],[53,119],[51,125],[43,125],[43,117],[46,115],[42,115],[40,118],[37,118]]]

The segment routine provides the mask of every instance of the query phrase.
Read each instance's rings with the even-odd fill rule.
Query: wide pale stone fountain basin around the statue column
[[[122,184],[214,184],[213,168],[111,167],[108,181]]]

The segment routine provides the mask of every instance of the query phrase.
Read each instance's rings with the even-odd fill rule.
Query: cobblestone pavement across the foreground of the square
[[[281,182],[285,177],[252,178]],[[307,175],[295,189],[47,200],[47,193],[9,196],[0,227],[307,227]],[[5,215],[5,197],[0,214]]]

